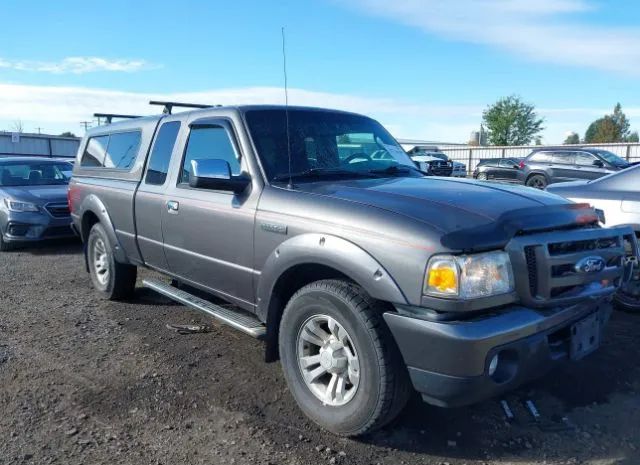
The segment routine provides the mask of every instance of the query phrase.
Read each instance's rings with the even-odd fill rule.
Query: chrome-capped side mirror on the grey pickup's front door
[[[251,179],[246,175],[233,176],[229,162],[218,158],[191,160],[189,186],[242,193]]]

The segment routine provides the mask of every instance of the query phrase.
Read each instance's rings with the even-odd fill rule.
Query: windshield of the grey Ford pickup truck
[[[246,120],[269,181],[289,173],[309,180],[422,175],[395,139],[364,116],[292,109],[288,134],[284,110],[250,110]]]

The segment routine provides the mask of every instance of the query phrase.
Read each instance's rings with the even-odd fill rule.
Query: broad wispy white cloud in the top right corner
[[[640,75],[640,28],[580,22],[580,13],[597,8],[588,0],[343,3],[452,41],[493,46],[539,62]]]

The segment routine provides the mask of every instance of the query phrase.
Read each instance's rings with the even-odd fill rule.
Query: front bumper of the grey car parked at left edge
[[[46,212],[4,212],[0,220],[0,234],[7,243],[74,236],[70,217],[55,218]]]

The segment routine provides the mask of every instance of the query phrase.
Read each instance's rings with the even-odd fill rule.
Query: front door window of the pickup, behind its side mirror
[[[231,167],[231,174],[240,174],[238,155],[229,133],[222,126],[196,126],[191,129],[179,183],[189,182],[191,160],[202,159],[225,160]]]

